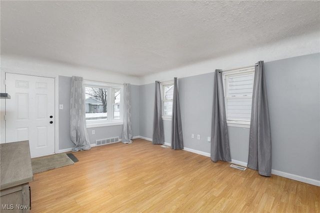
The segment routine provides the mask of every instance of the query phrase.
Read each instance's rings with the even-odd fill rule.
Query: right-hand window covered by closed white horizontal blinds
[[[254,66],[222,73],[226,122],[229,126],[250,126],[253,78]]]

